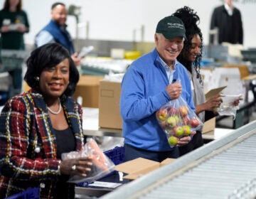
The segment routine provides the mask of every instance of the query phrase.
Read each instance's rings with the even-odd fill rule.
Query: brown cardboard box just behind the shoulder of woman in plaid
[[[82,107],[99,107],[100,80],[104,77],[93,75],[81,75],[73,97],[82,97]]]

